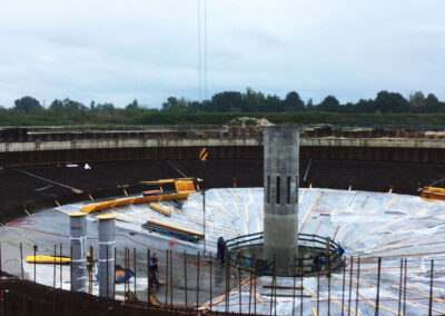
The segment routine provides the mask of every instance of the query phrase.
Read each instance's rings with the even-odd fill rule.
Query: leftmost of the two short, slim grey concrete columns
[[[82,211],[70,213],[70,238],[72,247],[72,290],[87,292],[87,218]]]

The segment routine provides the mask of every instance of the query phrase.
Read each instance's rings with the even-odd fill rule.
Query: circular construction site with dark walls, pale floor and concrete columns
[[[445,314],[441,130],[1,137],[0,315]]]

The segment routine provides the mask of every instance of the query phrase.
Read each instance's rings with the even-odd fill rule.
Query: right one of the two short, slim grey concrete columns
[[[116,216],[99,215],[96,218],[99,219],[99,296],[112,298],[115,296]]]

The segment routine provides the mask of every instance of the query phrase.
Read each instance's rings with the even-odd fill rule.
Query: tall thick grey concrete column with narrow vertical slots
[[[276,256],[278,275],[288,275],[297,255],[299,129],[264,129],[264,259]]]

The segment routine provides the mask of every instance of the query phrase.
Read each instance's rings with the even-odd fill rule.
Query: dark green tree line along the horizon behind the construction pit
[[[327,96],[319,103],[312,99],[304,101],[298,92],[290,91],[285,98],[265,95],[247,88],[245,92],[224,91],[204,101],[169,97],[160,108],[141,106],[134,100],[125,108],[110,102],[88,106],[66,99],[55,99],[48,107],[33,97],[26,96],[14,101],[13,107],[0,106],[1,125],[63,125],[63,124],[227,124],[239,116],[293,118],[324,117],[323,113],[344,115],[423,115],[445,113],[445,102],[429,93],[418,91],[406,99],[398,92],[379,91],[374,99],[340,103],[334,96]],[[274,116],[275,115],[275,116]],[[215,117],[215,119],[214,119]],[[291,121],[289,121],[291,122]]]

